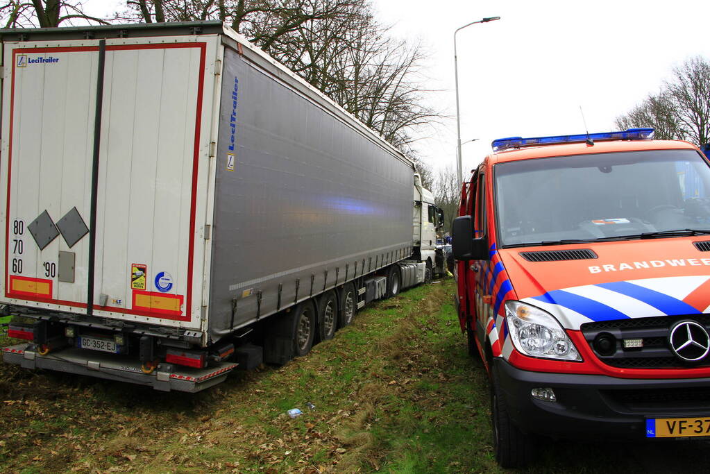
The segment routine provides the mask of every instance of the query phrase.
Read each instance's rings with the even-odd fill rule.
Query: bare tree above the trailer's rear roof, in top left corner
[[[53,28],[64,24],[107,24],[106,18],[84,13],[79,1],[68,0],[6,0],[0,4],[0,21],[5,28]]]

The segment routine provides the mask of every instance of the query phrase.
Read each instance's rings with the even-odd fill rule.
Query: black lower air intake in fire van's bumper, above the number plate
[[[601,390],[618,404],[633,410],[708,409],[710,387]]]

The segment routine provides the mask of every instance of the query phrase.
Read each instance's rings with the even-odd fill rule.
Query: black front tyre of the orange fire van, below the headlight
[[[495,370],[491,381],[491,421],[493,452],[498,464],[502,468],[524,468],[528,465],[532,459],[532,440],[510,421]]]

